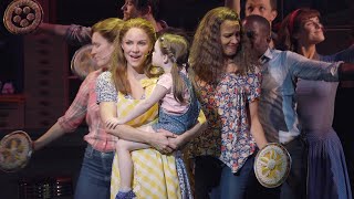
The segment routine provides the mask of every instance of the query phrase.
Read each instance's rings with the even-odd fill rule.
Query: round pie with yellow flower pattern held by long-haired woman
[[[254,174],[262,186],[274,188],[282,185],[287,180],[290,169],[291,157],[282,145],[270,143],[257,153]]]

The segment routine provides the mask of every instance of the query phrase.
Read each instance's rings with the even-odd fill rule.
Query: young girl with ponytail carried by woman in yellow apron
[[[200,107],[192,83],[187,76],[188,49],[188,42],[184,36],[163,34],[155,43],[153,64],[164,69],[165,74],[159,77],[153,94],[139,103],[126,117],[107,119],[106,126],[114,128],[116,125],[128,123],[160,102],[158,122],[153,126],[147,126],[147,130],[156,132],[163,128],[180,135],[192,127],[197,123]],[[150,146],[142,143],[118,140],[116,151],[119,163],[121,189],[116,198],[135,196],[132,190],[131,151],[148,147]]]

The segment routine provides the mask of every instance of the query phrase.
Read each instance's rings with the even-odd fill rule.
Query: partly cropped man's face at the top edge
[[[277,10],[272,10],[270,0],[247,0],[246,2],[246,17],[248,15],[261,15],[266,18],[270,23],[277,18]]]

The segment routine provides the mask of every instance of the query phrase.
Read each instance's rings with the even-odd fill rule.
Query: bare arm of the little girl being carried
[[[138,103],[132,112],[129,112],[128,115],[125,117],[118,118],[118,124],[125,124],[140,115],[143,115],[145,112],[147,112],[150,107],[153,107],[156,103],[158,103],[164,96],[167,94],[168,90],[162,85],[156,85],[154,88],[152,95],[145,100]]]

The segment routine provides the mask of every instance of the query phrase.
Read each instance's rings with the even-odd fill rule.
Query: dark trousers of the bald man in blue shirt
[[[249,199],[305,199],[306,198],[306,170],[308,170],[308,146],[298,137],[284,145],[289,151],[292,164],[287,181],[277,188],[261,186],[254,172],[252,172],[252,185],[248,189]]]

